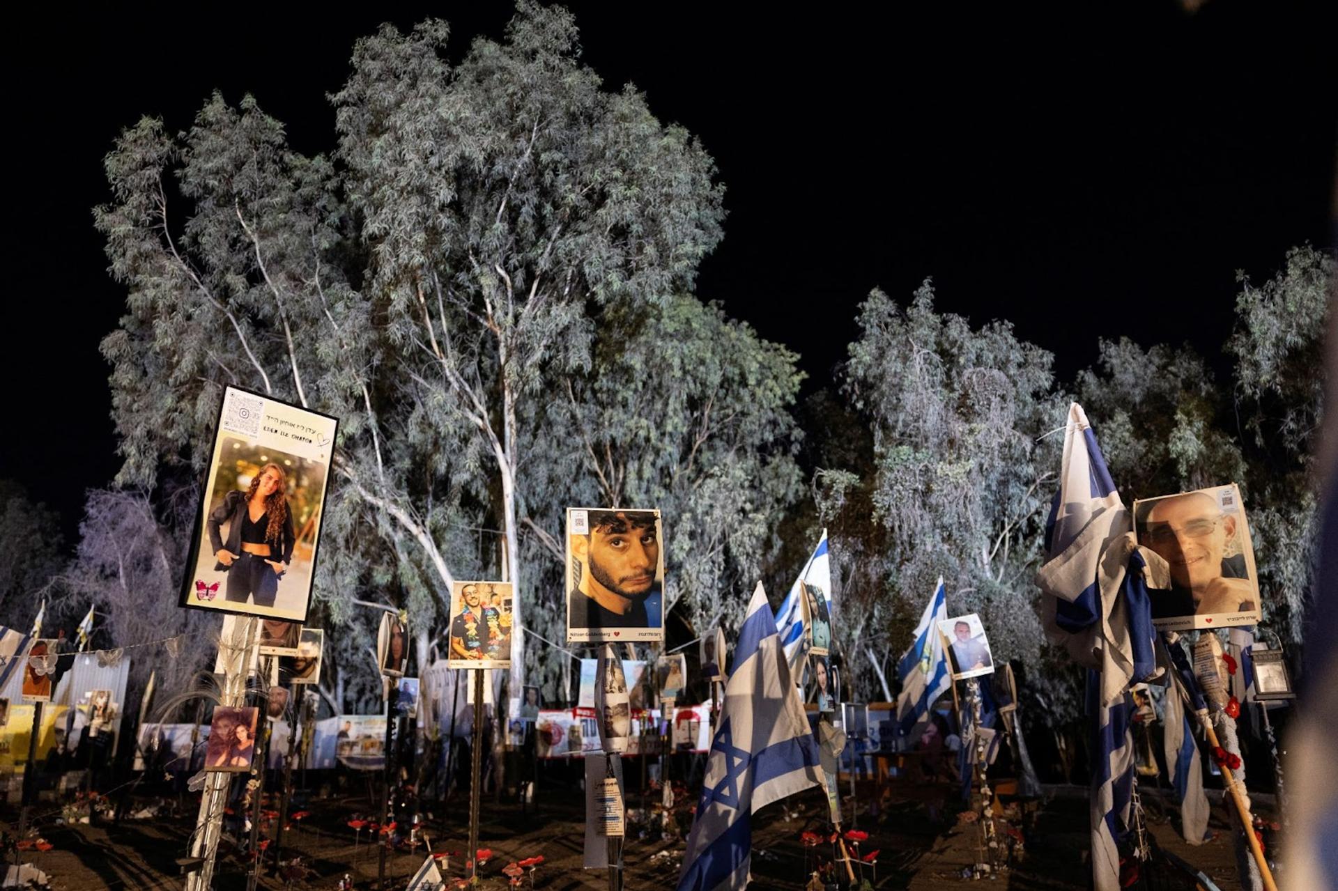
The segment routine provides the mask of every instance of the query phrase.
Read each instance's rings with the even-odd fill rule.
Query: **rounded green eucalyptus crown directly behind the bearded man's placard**
[[[678,609],[698,631],[741,621],[801,492],[796,361],[690,296],[611,308],[590,371],[554,393],[543,446],[563,458],[549,464],[558,478],[538,488],[554,496],[575,486],[583,503],[660,507],[665,613]],[[559,507],[543,512],[559,518]],[[558,538],[542,540],[561,559]],[[551,587],[562,590],[561,575]]]

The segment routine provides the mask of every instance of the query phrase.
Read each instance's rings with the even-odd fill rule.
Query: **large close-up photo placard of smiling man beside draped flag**
[[[1135,538],[1165,561],[1168,589],[1152,589],[1152,623],[1164,630],[1258,625],[1259,571],[1240,487],[1133,502]]]

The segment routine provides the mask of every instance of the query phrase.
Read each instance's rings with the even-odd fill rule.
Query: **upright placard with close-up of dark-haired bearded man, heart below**
[[[658,510],[567,508],[567,642],[664,639]]]

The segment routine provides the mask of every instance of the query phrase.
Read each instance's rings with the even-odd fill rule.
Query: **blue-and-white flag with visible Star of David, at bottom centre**
[[[719,721],[678,891],[744,888],[753,812],[823,785],[818,741],[760,582],[739,630]]]

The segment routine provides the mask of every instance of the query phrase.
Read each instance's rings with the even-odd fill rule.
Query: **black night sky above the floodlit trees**
[[[459,55],[500,36],[510,8],[47,5],[11,27],[21,166],[5,302],[11,384],[28,396],[0,476],[60,510],[72,538],[83,491],[118,467],[98,341],[124,294],[90,213],[118,131],[142,114],[185,128],[217,87],[233,103],[256,94],[296,148],[328,151],[324,96],[357,36],[392,12],[404,28],[436,15]],[[1065,377],[1103,334],[1189,341],[1226,372],[1235,270],[1262,280],[1288,246],[1331,243],[1329,3],[886,4],[827,20],[569,5],[605,84],[633,82],[714,157],[729,217],[697,293],[799,351],[805,392],[830,384],[870,289],[904,300],[926,276],[941,309],[1012,320]]]

